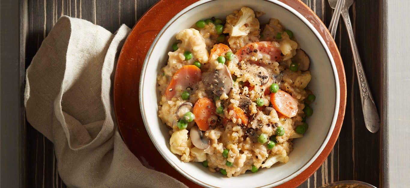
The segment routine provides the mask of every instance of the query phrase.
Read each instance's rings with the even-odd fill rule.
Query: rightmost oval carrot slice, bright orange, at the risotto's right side
[[[294,117],[298,112],[298,101],[282,90],[271,94],[271,103],[276,111],[286,117]]]

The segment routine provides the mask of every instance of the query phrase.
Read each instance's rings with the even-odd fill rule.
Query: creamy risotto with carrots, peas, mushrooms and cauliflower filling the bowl
[[[158,108],[183,162],[227,177],[256,173],[287,163],[307,130],[309,57],[278,19],[261,24],[263,14],[242,7],[175,36],[157,77]]]

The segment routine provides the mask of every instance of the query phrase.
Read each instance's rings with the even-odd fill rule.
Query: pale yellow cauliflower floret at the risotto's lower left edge
[[[192,156],[189,156],[191,140],[188,139],[188,130],[183,129],[172,133],[169,144],[171,152],[180,155],[182,161],[187,163],[194,159]]]

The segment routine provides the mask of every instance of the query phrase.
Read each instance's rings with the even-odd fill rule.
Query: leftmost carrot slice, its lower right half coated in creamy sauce
[[[172,76],[171,82],[165,90],[166,99],[171,100],[176,94],[177,89],[186,89],[192,87],[199,81],[201,81],[202,73],[195,65],[185,65],[179,69],[174,76]]]

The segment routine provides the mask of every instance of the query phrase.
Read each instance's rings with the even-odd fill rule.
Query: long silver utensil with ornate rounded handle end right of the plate
[[[328,1],[330,7],[335,9],[337,0]],[[349,17],[349,7],[353,4],[353,2],[354,0],[344,0],[344,4],[342,7],[342,17],[346,25],[347,33],[350,39],[350,46],[353,52],[353,60],[355,62],[356,74],[358,76],[364,124],[366,124],[367,130],[369,130],[372,133],[376,133],[380,128],[380,117],[377,112],[376,105],[374,104],[373,96],[371,95],[371,92],[369,90],[369,84],[367,83],[366,75],[363,71],[362,60],[360,60],[358,47],[356,45],[355,36],[353,34],[353,29]]]

